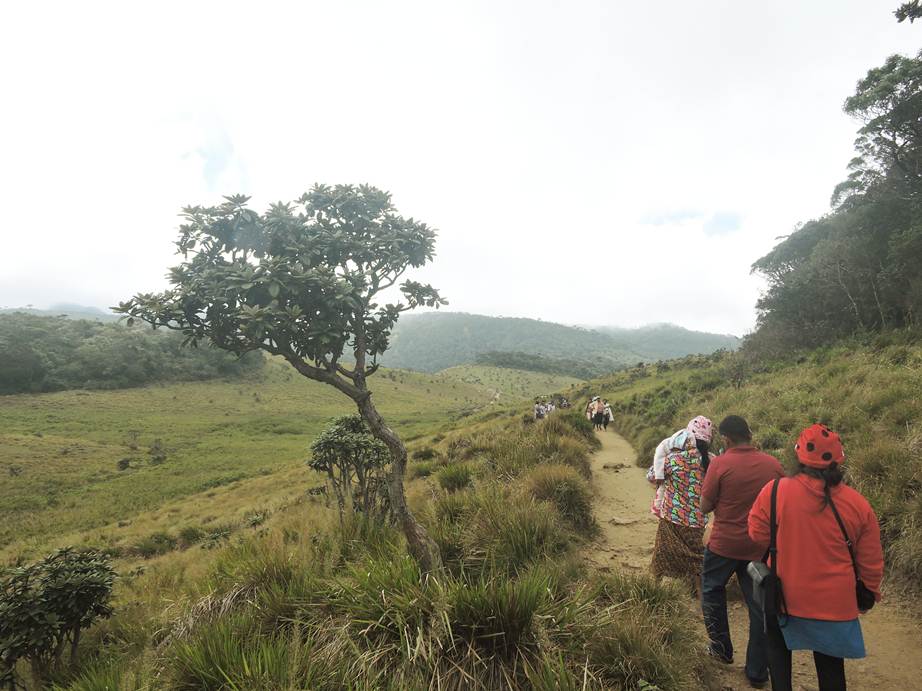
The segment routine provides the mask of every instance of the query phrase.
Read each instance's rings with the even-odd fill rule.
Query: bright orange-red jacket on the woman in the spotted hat
[[[769,542],[771,493],[768,483],[749,512],[749,537],[762,549]],[[852,539],[858,573],[879,600],[884,557],[877,516],[851,487],[838,485],[831,495]],[[832,509],[823,508],[823,481],[785,478],[777,501],[778,577],[788,614],[824,621],[856,618],[855,572]]]

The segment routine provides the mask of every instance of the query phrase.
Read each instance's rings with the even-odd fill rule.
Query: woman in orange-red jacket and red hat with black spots
[[[767,622],[772,689],[790,691],[791,651],[811,650],[820,691],[838,691],[845,689],[844,659],[865,656],[856,571],[874,599],[880,599],[880,526],[867,499],[842,484],[845,453],[835,432],[812,425],[794,449],[800,467],[779,482],[777,494],[775,567],[784,614]],[[766,548],[772,484],[762,489],[749,513],[749,536]],[[854,565],[836,511],[851,540]]]

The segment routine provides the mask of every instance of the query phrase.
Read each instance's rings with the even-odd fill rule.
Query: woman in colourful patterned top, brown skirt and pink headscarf
[[[712,425],[703,416],[692,423],[689,434],[685,435],[684,448],[673,449],[666,455],[663,502],[651,566],[656,578],[681,579],[695,593],[700,593],[702,541],[707,523],[700,498]]]

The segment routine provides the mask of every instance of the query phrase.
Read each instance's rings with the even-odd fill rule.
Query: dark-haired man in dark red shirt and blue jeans
[[[749,608],[746,677],[758,688],[768,681],[767,644],[762,612],[753,600],[746,567],[750,561],[761,559],[764,550],[749,538],[749,510],[762,488],[783,477],[784,470],[777,458],[752,446],[749,424],[739,415],[724,418],[718,432],[727,450],[711,460],[701,490],[701,510],[714,512],[713,530],[704,550],[701,608],[711,654],[727,664],[733,662],[727,583],[735,573]]]

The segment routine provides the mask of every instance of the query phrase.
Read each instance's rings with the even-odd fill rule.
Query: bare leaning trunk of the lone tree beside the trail
[[[442,555],[426,529],[416,520],[407,506],[407,497],[403,489],[403,476],[407,467],[407,448],[400,437],[385,424],[381,414],[371,402],[371,394],[356,400],[359,413],[371,433],[380,439],[391,452],[391,472],[387,478],[387,493],[391,502],[391,511],[400,523],[407,538],[410,554],[419,563],[423,573],[438,575],[442,572]]]

